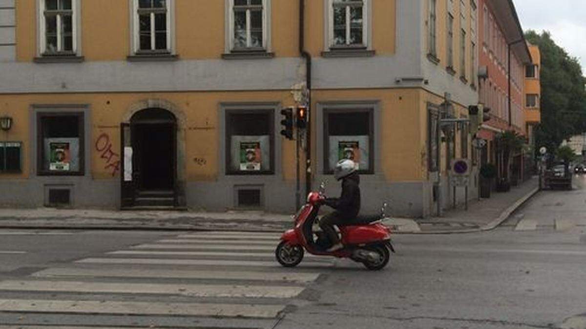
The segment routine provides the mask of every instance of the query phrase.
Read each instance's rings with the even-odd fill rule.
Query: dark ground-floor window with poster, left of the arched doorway
[[[37,114],[37,170],[39,175],[84,174],[84,114]]]

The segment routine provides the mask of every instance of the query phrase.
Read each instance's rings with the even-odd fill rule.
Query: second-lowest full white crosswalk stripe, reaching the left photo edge
[[[6,280],[0,282],[0,290],[19,292],[168,294],[190,297],[227,298],[292,298],[297,296],[304,289],[304,287],[265,285],[178,285],[172,283],[20,280]]]

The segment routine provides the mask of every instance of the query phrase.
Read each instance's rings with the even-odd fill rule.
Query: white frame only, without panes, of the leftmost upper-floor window
[[[57,51],[56,53],[47,53],[47,39],[46,39],[46,22],[45,22],[45,0],[37,0],[37,26],[38,26],[38,56],[59,56],[59,55],[74,55],[81,54],[81,39],[79,31],[81,30],[80,18],[80,0],[71,0],[71,52]],[[61,29],[60,16],[57,16],[57,31]],[[60,48],[61,38],[57,32],[57,48]]]

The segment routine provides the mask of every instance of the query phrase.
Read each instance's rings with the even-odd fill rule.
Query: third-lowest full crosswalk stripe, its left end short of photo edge
[[[91,277],[152,277],[165,279],[218,279],[218,280],[262,280],[309,283],[318,279],[320,273],[306,272],[250,272],[215,270],[167,270],[167,269],[84,269],[50,268],[33,273],[35,277],[91,276]]]

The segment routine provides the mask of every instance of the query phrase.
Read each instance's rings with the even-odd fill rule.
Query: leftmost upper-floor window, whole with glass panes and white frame
[[[44,56],[76,54],[78,1],[40,0],[40,54]]]

